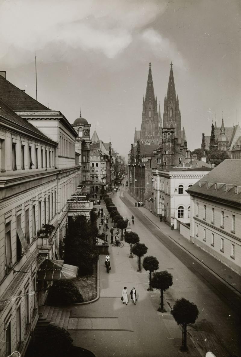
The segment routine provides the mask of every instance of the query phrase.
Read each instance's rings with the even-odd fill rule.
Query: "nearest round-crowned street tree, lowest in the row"
[[[193,302],[181,298],[176,300],[175,305],[171,311],[177,325],[182,326],[182,347],[187,349],[187,324],[194,323],[197,320],[199,311],[197,305]]]

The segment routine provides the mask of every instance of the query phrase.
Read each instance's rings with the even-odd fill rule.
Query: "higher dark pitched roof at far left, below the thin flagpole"
[[[0,99],[14,111],[50,110],[0,75]]]

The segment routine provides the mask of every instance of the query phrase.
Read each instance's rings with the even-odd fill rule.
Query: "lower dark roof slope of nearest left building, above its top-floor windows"
[[[0,76],[1,77],[1,76]],[[17,115],[13,109],[11,109],[6,103],[4,103],[3,100],[0,99],[0,116],[11,120],[11,122],[18,126],[22,127],[22,130],[27,132],[30,131],[32,135],[38,136],[39,138],[41,137],[42,140],[48,140],[49,142],[53,143],[56,145],[57,143],[53,140],[51,140],[48,136],[46,136],[43,132],[41,132],[39,129],[37,129],[34,125],[30,124],[26,119],[21,118],[19,115]]]

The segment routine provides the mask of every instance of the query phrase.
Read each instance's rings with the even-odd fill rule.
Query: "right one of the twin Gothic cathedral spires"
[[[181,129],[181,111],[179,109],[178,96],[176,97],[172,62],[169,74],[167,97],[165,95],[164,99],[163,128],[174,128],[174,136],[179,139],[178,142],[181,143],[184,140]]]

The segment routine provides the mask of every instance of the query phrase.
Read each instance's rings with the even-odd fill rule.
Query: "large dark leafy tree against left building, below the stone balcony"
[[[69,217],[67,235],[64,240],[64,262],[77,265],[80,275],[92,273],[99,251],[95,237],[98,228],[92,226],[85,216]]]

